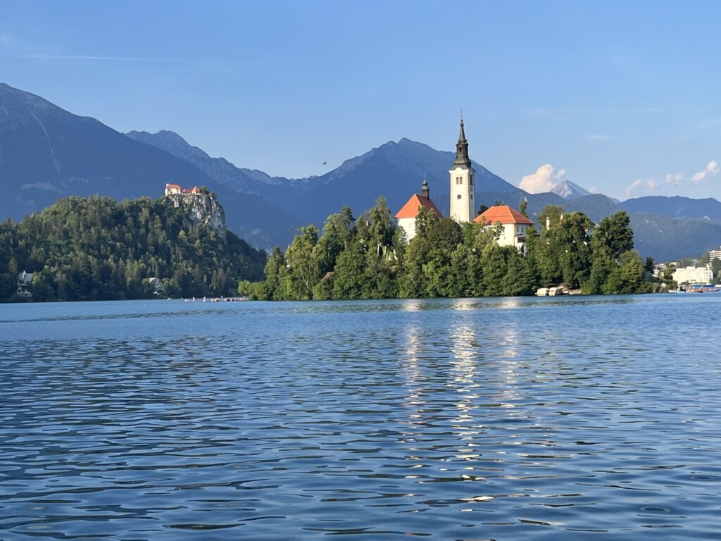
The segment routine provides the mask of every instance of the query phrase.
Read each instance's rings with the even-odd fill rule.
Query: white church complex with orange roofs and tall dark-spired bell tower
[[[528,226],[533,225],[533,221],[508,205],[492,206],[476,216],[476,172],[468,155],[468,141],[466,140],[463,117],[461,117],[461,128],[456,143],[456,159],[448,174],[451,177],[451,201],[448,206],[450,217],[459,224],[467,224],[470,221],[484,225],[501,224],[503,231],[498,238],[498,244],[501,246],[513,246],[521,250],[521,252],[525,252]],[[428,180],[425,178],[423,179],[420,195],[417,193],[411,195],[407,203],[402,206],[395,216],[398,226],[404,229],[409,241],[415,237],[415,218],[421,208],[428,209],[439,218],[442,217],[441,211],[430,199]]]

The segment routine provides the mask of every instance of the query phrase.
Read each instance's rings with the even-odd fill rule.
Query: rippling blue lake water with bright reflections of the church
[[[720,308],[0,305],[0,539],[718,540]]]

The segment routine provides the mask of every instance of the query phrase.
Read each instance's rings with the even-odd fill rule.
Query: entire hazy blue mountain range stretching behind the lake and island
[[[218,193],[229,229],[252,244],[286,246],[299,226],[324,219],[342,206],[360,214],[385,195],[392,211],[420,190],[448,213],[448,169],[454,152],[402,138],[348,159],[324,175],[273,177],[211,157],[177,133],[119,133],[35,94],[0,84],[0,218],[21,219],[67,195],[137,198],[162,195],[166,182],[205,185]],[[642,255],[673,260],[699,255],[721,242],[721,203],[715,199],[644,197],[619,203],[568,180],[552,192],[530,194],[474,162],[477,201],[525,199],[531,218],[548,204],[583,211],[598,221],[629,212]]]

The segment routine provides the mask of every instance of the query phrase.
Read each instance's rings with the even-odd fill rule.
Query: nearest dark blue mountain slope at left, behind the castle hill
[[[21,219],[67,195],[156,198],[166,182],[216,191],[229,229],[252,244],[272,247],[292,238],[297,219],[257,195],[240,195],[185,159],[0,84],[2,219]]]

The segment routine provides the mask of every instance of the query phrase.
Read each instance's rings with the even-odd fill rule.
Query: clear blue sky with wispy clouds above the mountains
[[[4,1],[0,81],[271,175],[402,137],[451,150],[462,109],[472,158],[513,184],[721,199],[720,19],[717,1]]]

